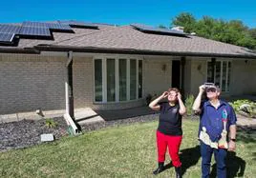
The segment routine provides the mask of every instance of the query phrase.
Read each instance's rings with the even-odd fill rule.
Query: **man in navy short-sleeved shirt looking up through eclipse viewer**
[[[203,93],[208,100],[202,102]],[[202,155],[202,177],[210,174],[211,156],[214,153],[218,178],[226,177],[227,150],[236,148],[236,114],[234,109],[219,99],[221,90],[214,86],[200,86],[193,110],[201,115],[199,139]]]

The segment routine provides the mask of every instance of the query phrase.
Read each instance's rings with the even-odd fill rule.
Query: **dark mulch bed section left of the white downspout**
[[[55,139],[68,134],[66,121],[62,117],[53,118],[53,121],[57,123],[55,128],[48,128],[44,119],[0,124],[0,151],[40,144],[43,133],[53,133]]]

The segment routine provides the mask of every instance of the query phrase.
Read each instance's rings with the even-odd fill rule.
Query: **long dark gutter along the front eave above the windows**
[[[249,58],[256,59],[255,54],[220,54],[220,53],[204,53],[204,52],[176,52],[176,51],[159,51],[144,49],[107,49],[96,47],[71,47],[71,46],[54,46],[39,45],[35,49],[46,51],[69,51],[74,52],[92,52],[92,53],[119,53],[119,54],[140,54],[140,55],[173,55],[173,56],[200,56],[200,57],[232,57],[232,58]]]

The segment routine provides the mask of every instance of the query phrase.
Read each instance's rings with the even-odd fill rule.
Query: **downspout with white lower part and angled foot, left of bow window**
[[[74,114],[74,95],[73,95],[73,51],[68,52],[68,61],[66,64],[67,78],[65,82],[65,96],[66,96],[66,113],[64,118],[73,134],[78,134],[79,129],[75,125]]]

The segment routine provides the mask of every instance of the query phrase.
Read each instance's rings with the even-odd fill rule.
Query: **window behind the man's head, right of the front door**
[[[212,69],[211,63],[207,63],[207,81],[211,82],[212,72],[214,72],[214,83],[222,91],[229,91],[230,83],[230,61],[216,61],[215,68]]]

